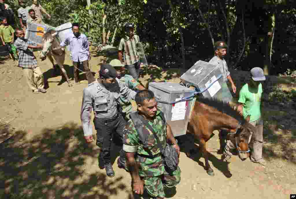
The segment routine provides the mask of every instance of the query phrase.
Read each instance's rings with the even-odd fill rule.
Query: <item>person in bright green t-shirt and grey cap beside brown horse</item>
[[[241,104],[239,109],[242,111],[244,118],[250,115],[250,123],[256,128],[256,140],[253,145],[253,151],[250,159],[252,162],[266,165],[265,160],[262,157],[263,147],[263,120],[261,118],[261,95],[262,84],[260,81],[264,81],[265,76],[263,70],[259,67],[251,69],[250,82],[245,84],[239,92],[239,103]]]

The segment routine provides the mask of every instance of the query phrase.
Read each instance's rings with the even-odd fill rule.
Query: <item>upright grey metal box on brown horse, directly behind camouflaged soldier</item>
[[[157,106],[163,111],[174,137],[185,135],[195,103],[194,90],[172,82],[150,82],[148,89],[154,93]],[[188,99],[179,101],[182,97]]]

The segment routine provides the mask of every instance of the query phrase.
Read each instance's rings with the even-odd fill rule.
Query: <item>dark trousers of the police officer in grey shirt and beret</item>
[[[113,133],[116,132],[120,137],[120,141],[123,141],[123,129],[126,125],[125,119],[122,114],[117,113],[112,118],[94,118],[94,126],[96,129],[96,145],[101,148],[100,158],[104,161],[104,164],[111,161],[111,141]]]

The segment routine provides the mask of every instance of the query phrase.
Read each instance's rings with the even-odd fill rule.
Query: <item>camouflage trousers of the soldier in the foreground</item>
[[[143,177],[145,191],[152,198],[164,198],[164,188],[175,187],[181,181],[181,170],[178,167],[172,174],[164,172],[164,174],[155,177]]]

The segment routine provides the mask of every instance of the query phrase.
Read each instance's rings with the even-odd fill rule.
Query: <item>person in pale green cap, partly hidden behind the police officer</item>
[[[137,82],[133,76],[125,74],[124,65],[121,64],[121,62],[118,59],[113,59],[110,63],[117,72],[117,78],[119,81],[125,85],[126,87],[132,89],[132,90],[144,90],[145,88]],[[127,98],[123,98],[122,96],[119,97],[119,103],[122,108],[123,117],[126,119],[126,121],[129,120],[129,114],[135,110],[133,110],[133,107],[131,105],[131,101]]]

